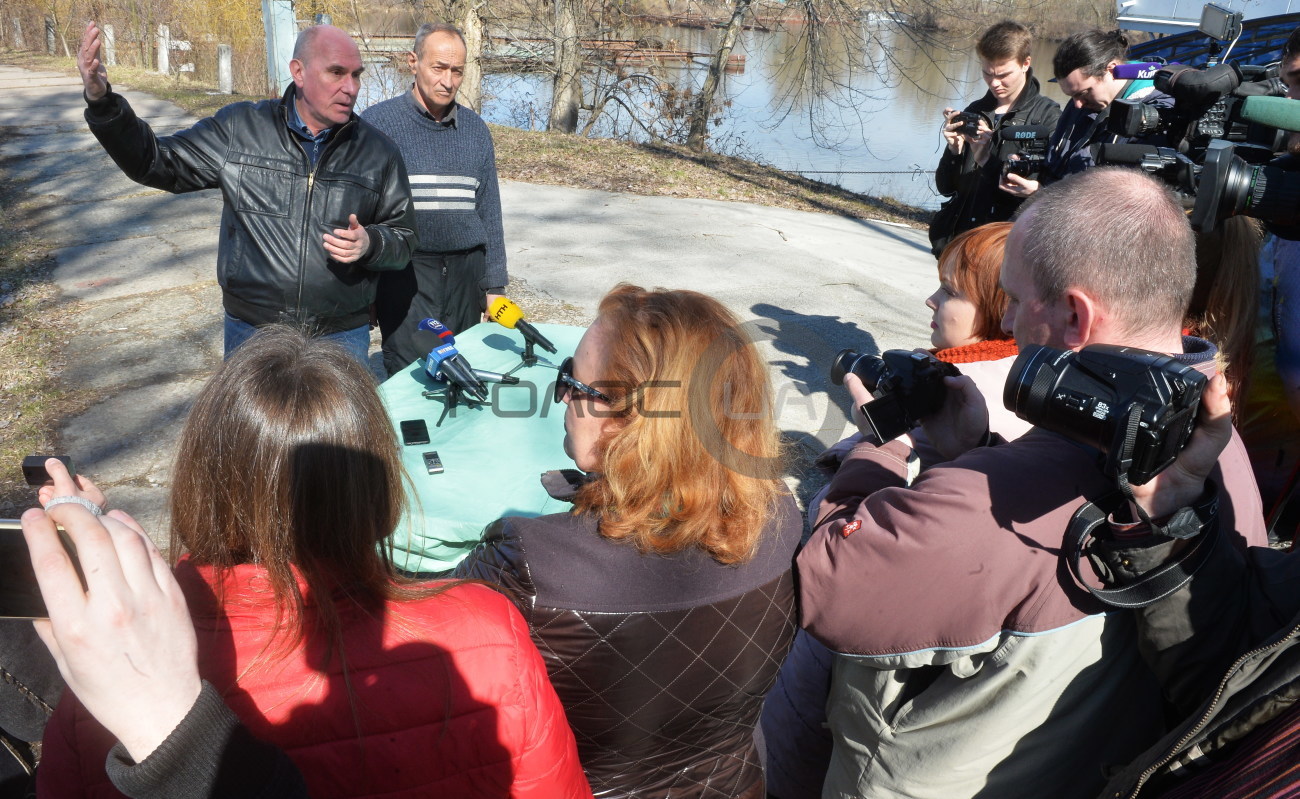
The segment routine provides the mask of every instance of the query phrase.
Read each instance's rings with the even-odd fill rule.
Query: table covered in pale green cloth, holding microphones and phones
[[[393,534],[394,565],[407,572],[445,572],[473,550],[484,527],[502,516],[562,513],[572,505],[551,499],[543,472],[573,469],[564,455],[564,405],[551,401],[556,366],[573,355],[582,327],[536,325],[559,351],[537,348],[537,364],[523,366],[524,336],[499,325],[481,323],[456,334],[456,349],[474,369],[511,373],[517,386],[488,383],[482,405],[462,403],[443,416],[442,388],[424,370],[424,360],[380,386],[394,430],[422,418],[429,443],[402,447],[402,465],[411,477],[407,513]],[[442,420],[441,425],[438,424]],[[400,433],[399,433],[400,440]],[[436,450],[443,473],[429,474],[424,453]]]

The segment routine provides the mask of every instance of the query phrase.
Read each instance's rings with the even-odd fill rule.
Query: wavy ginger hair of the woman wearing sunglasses
[[[624,283],[601,300],[597,323],[594,385],[614,398],[614,424],[577,511],[642,552],[751,557],[784,488],[767,364],[740,321],[694,291]]]

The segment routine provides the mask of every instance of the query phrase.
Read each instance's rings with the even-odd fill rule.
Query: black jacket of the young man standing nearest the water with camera
[[[985,92],[983,97],[967,105],[966,110],[980,113],[992,123],[997,105],[993,92]],[[1020,96],[993,125],[993,130],[997,133],[1014,125],[1054,126],[1060,116],[1061,107],[1040,94],[1039,79],[1034,77],[1031,69]],[[997,152],[992,152],[988,161],[980,166],[975,162],[970,148],[963,148],[961,153],[944,148],[944,156],[935,169],[935,187],[939,194],[952,199],[935,214],[930,227],[930,240],[936,256],[957,234],[988,222],[1011,218],[1023,197],[1000,190],[997,184],[1001,179],[1002,160]]]

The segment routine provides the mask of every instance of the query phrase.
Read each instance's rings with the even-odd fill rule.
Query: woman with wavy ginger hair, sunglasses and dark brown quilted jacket
[[[767,365],[716,300],[620,285],[556,399],[573,511],[494,522],[458,574],[524,612],[598,796],[762,798],[802,531]]]

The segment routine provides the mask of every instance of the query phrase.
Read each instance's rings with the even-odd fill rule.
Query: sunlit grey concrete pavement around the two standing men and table
[[[116,88],[159,133],[194,122]],[[23,187],[26,221],[55,247],[52,279],[74,331],[60,379],[98,398],[61,420],[60,448],[165,539],[176,437],[221,359],[221,197],[126,179],[83,108],[77,78],[0,65],[0,175]],[[936,274],[919,229],[514,182],[502,204],[510,294],[532,318],[589,322],[621,281],[716,296],[772,364],[780,426],[803,455],[846,431],[848,395],[828,394],[835,352],[928,343],[923,301]]]

